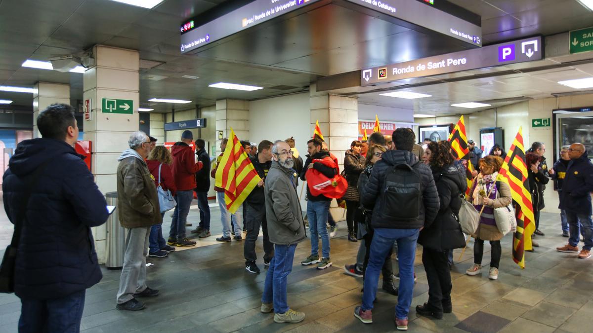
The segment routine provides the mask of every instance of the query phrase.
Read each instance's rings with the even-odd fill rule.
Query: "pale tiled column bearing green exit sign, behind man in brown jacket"
[[[85,120],[84,139],[92,142],[91,171],[103,193],[117,191],[117,158],[139,129],[138,51],[96,45],[95,66],[84,72],[84,100],[91,99],[91,120]],[[131,113],[103,113],[103,98],[132,100]],[[119,109],[118,109],[119,110]],[[105,226],[93,229],[99,262],[105,261]]]

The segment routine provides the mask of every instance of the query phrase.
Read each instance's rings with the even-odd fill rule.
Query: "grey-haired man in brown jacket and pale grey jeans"
[[[144,304],[136,297],[154,297],[158,290],[146,286],[146,255],[152,225],[162,223],[157,187],[145,159],[151,142],[142,132],[134,132],[127,141],[129,149],[117,161],[117,210],[126,236],[122,276],[117,292],[117,309],[137,311]]]

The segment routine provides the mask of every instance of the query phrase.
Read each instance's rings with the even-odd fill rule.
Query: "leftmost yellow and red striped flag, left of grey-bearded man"
[[[243,145],[231,128],[231,136],[220,163],[216,167],[216,187],[224,188],[224,201],[231,214],[262,180],[251,164]]]

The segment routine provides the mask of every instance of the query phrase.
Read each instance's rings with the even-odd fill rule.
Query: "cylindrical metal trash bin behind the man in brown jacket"
[[[109,206],[117,206],[117,192],[105,194]],[[120,270],[123,267],[123,255],[126,251],[126,229],[119,223],[117,209],[109,215],[105,224],[106,249],[105,266],[109,270]]]

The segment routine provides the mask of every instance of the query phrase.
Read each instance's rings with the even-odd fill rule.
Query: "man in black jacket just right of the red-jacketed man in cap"
[[[200,210],[200,224],[192,233],[197,233],[199,238],[206,238],[210,233],[210,206],[208,206],[208,191],[210,190],[210,156],[206,152],[206,142],[203,139],[196,140],[197,160],[202,162],[202,169],[196,172],[196,198],[197,207]]]

